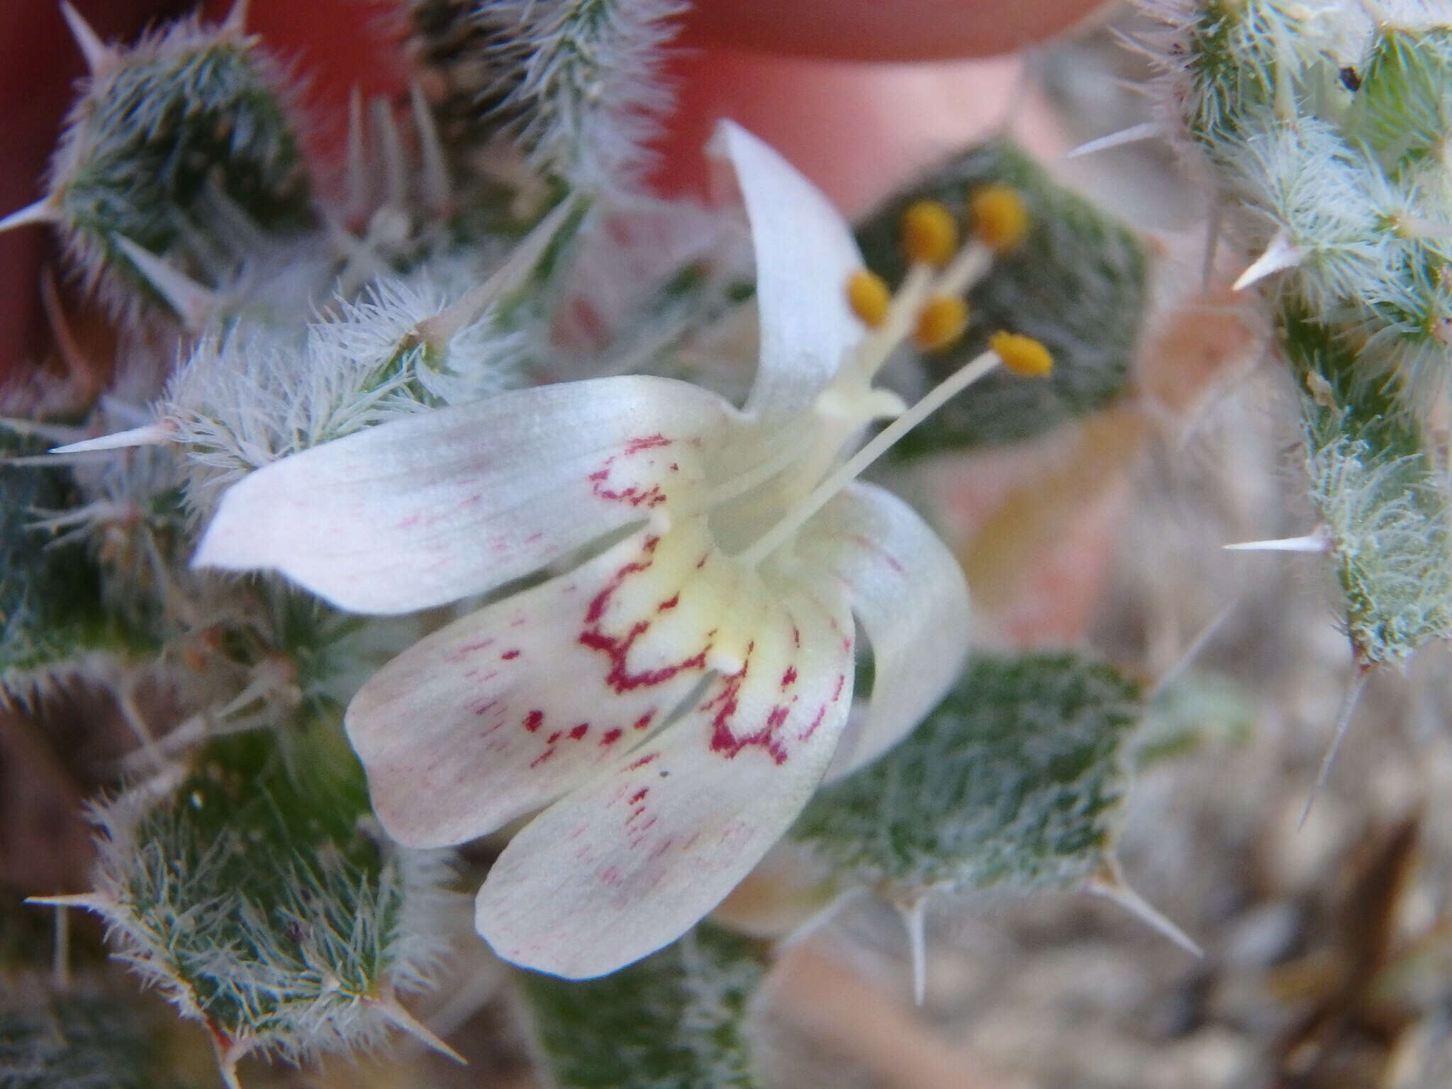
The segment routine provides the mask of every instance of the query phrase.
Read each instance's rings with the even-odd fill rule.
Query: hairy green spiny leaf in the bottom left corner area
[[[437,967],[446,868],[379,842],[331,730],[213,741],[170,796],[138,790],[97,820],[112,942],[228,1045],[367,1047]]]

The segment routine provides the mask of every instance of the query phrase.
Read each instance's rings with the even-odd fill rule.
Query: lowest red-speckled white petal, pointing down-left
[[[839,595],[746,582],[743,669],[717,675],[687,714],[546,809],[494,864],[475,925],[505,960],[588,979],[661,948],[806,804],[851,703],[851,614]]]

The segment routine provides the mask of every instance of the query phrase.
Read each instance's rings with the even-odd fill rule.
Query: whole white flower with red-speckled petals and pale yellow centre
[[[871,388],[903,321],[864,335],[845,224],[749,134],[726,125],[720,141],[756,250],[745,408],[624,376],[391,421],[244,478],[196,556],[401,613],[597,549],[417,643],[347,713],[404,844],[457,844],[543,807],[495,862],[476,923],[499,955],[568,977],[687,931],[833,756],[842,772],[893,745],[967,650],[957,562],[906,504],[852,481],[871,452],[842,463],[864,424],[903,409]],[[854,614],[874,682],[839,754]]]

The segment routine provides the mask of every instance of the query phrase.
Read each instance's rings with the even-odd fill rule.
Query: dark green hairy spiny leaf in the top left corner
[[[87,282],[123,283],[113,296],[126,306],[158,298],[118,238],[215,283],[250,232],[314,222],[273,62],[254,39],[196,23],[116,49],[93,74],[49,186],[70,256]]]

